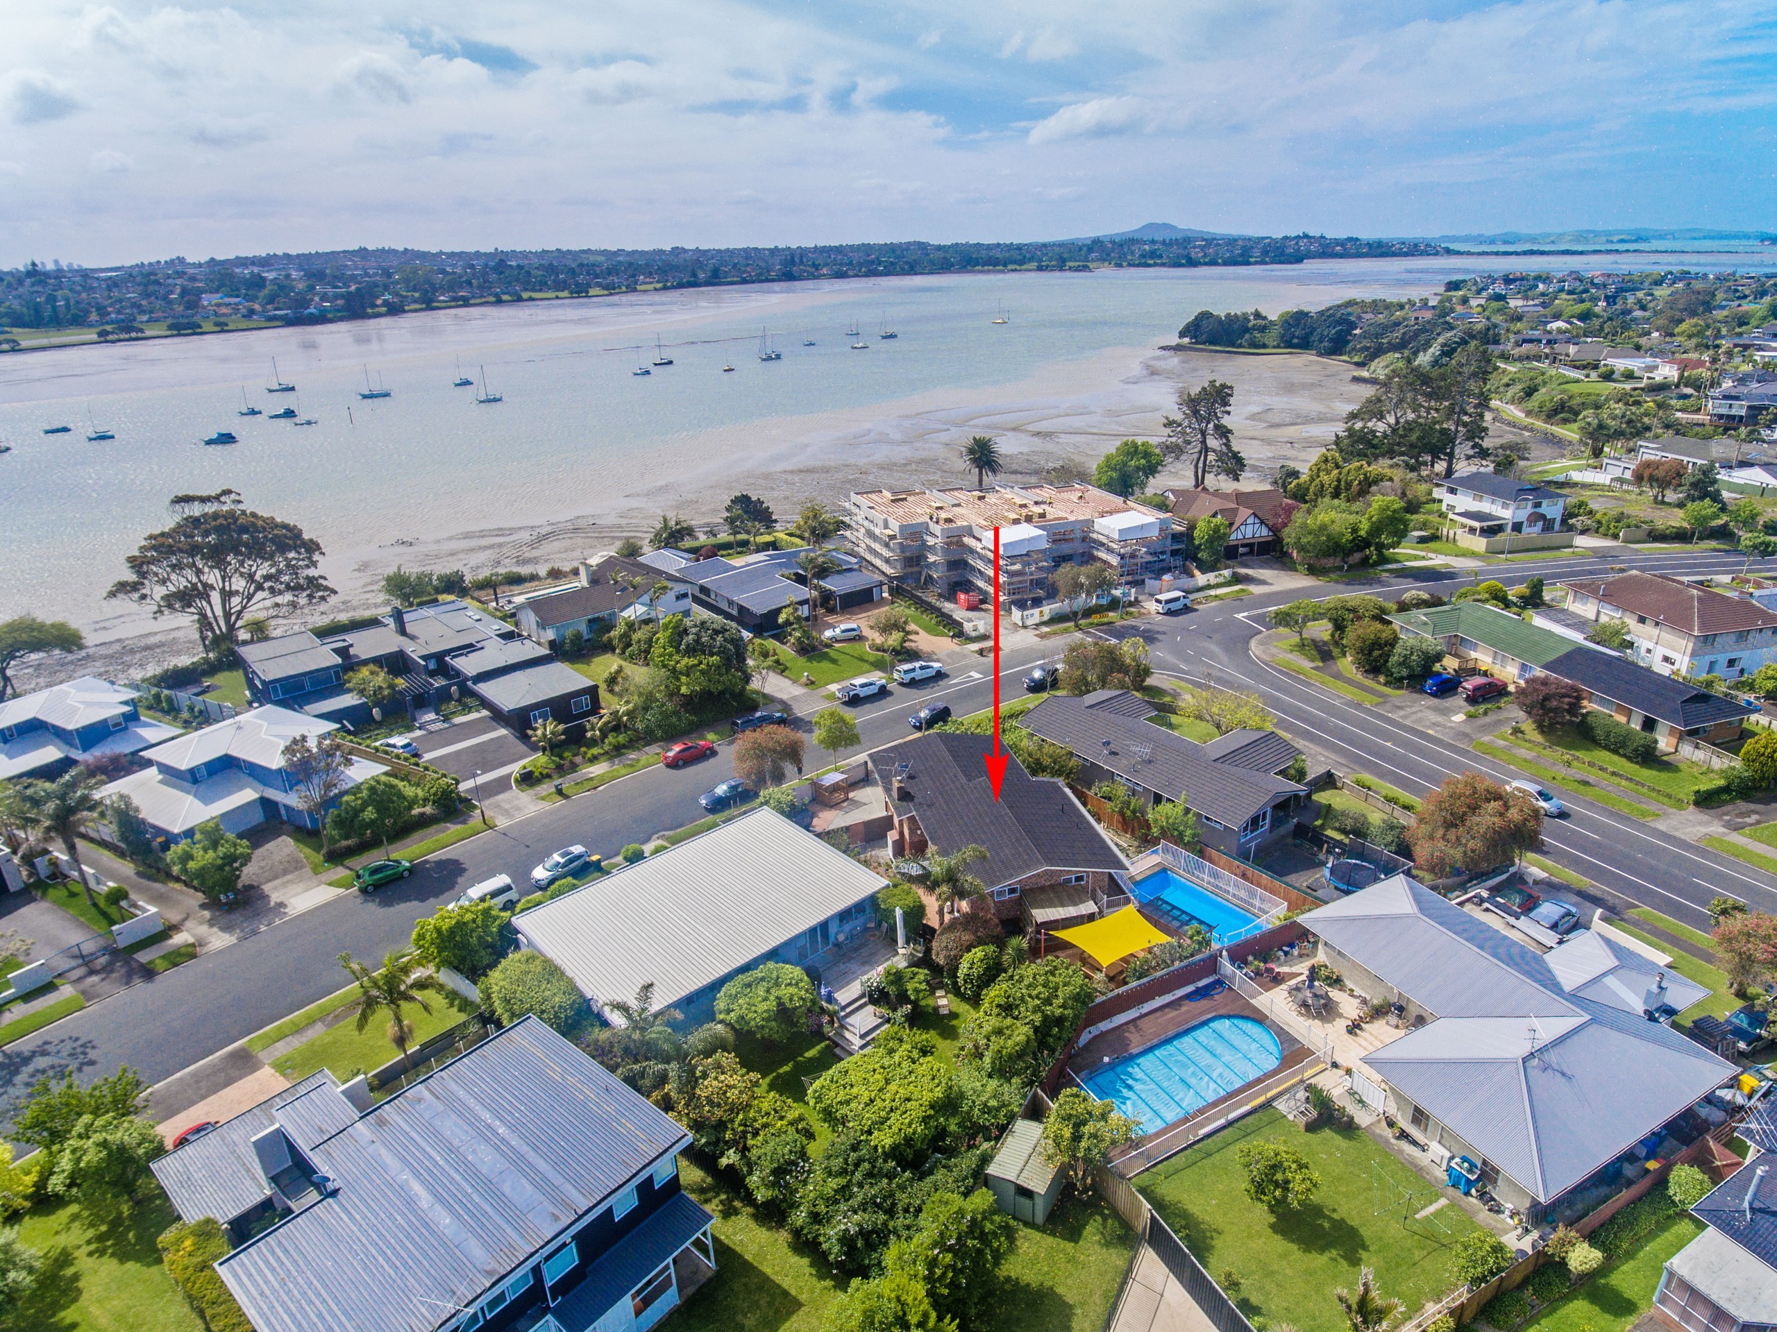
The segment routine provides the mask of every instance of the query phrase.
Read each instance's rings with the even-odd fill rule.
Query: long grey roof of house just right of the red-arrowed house
[[[1050,694],[1018,725],[1230,828],[1303,790],[1271,773],[1217,762],[1196,741],[1146,721],[1150,716],[1153,707],[1139,694],[1105,689],[1084,698]]]

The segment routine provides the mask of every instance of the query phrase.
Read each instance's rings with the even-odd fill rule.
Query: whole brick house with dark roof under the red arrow
[[[1008,932],[1013,922],[1024,931],[1079,925],[1120,904],[1128,861],[1068,785],[1032,778],[1008,757],[995,799],[984,762],[992,749],[990,735],[947,732],[876,749],[871,767],[894,815],[888,852],[917,860],[967,845],[986,851],[968,867],[986,886],[972,906],[992,909]]]

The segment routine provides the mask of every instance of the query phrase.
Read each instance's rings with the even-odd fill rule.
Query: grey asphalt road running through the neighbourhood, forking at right
[[[1647,570],[1702,572],[1738,570],[1741,561],[1738,556],[1633,556],[1621,563]],[[1514,581],[1530,574],[1555,579],[1601,572],[1601,567],[1599,559],[1567,558],[1514,563],[1509,572]],[[1493,572],[1487,570],[1489,575]],[[1425,570],[1370,584],[1308,591],[1324,597],[1338,591],[1397,590],[1398,595],[1398,590],[1413,584],[1454,581],[1468,581],[1468,575]],[[1263,611],[1299,595],[1306,593],[1214,602],[1178,618],[1130,622],[1109,636],[1141,636],[1162,673],[1201,678],[1208,668],[1221,684],[1260,693],[1285,732],[1311,739],[1340,755],[1352,769],[1372,773],[1414,794],[1461,771],[1516,776],[1466,748],[1372,709],[1345,703],[1287,671],[1255,661],[1247,645],[1263,627]],[[1000,662],[1002,694],[1016,696],[1018,677],[1031,662],[1059,655],[1063,646],[1063,641],[1052,641],[1045,650],[1008,654]],[[896,686],[888,698],[858,709],[864,741],[860,749],[904,737],[906,716],[938,700],[947,702],[958,716],[988,707],[988,662],[956,666],[951,677],[926,686]],[[809,755],[812,764],[819,764],[823,757],[819,751]],[[341,952],[380,957],[389,948],[405,947],[414,922],[464,886],[498,872],[522,881],[533,865],[562,845],[579,842],[611,854],[629,842],[647,842],[656,833],[695,822],[704,813],[697,805],[698,794],[732,773],[730,744],[693,767],[643,769],[462,842],[423,861],[410,879],[373,897],[341,895],[126,989],[0,1050],[0,1114],[39,1074],[64,1067],[91,1078],[130,1064],[151,1083],[167,1078],[338,989],[345,980],[338,964]],[[1548,854],[1608,892],[1695,925],[1706,925],[1702,908],[1717,893],[1777,909],[1777,879],[1704,847],[1663,836],[1587,801],[1583,794],[1560,790],[1560,796],[1574,813],[1571,821],[1550,821]]]

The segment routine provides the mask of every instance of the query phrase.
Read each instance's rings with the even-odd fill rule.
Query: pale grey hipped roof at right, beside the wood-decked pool
[[[1569,993],[1546,957],[1404,874],[1301,920],[1438,1014],[1365,1064],[1544,1202],[1736,1071],[1621,996]],[[1583,961],[1558,966],[1582,977]]]

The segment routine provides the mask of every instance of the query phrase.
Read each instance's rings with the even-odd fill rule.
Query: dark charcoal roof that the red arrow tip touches
[[[926,840],[951,854],[974,844],[988,852],[974,867],[988,888],[1036,870],[1125,870],[1128,863],[1105,838],[1073,792],[1052,778],[1032,778],[1011,758],[1000,797],[993,799],[984,755],[993,737],[933,732],[871,755],[871,767],[896,813],[913,813]],[[894,774],[906,764],[912,799],[892,799]]]

